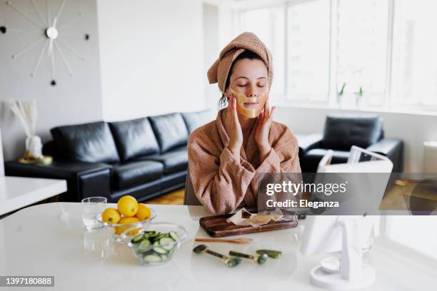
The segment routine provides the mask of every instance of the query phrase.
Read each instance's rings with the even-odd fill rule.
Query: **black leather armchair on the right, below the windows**
[[[393,173],[403,172],[403,141],[384,138],[383,119],[371,114],[336,114],[326,117],[322,133],[298,137],[301,170],[314,173],[327,150],[331,163],[346,163],[351,146],[366,148],[390,158]]]

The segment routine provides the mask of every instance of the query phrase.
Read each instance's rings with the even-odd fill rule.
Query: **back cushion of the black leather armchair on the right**
[[[351,146],[367,148],[382,137],[382,127],[382,118],[377,115],[329,115],[322,146],[337,150],[350,150]]]

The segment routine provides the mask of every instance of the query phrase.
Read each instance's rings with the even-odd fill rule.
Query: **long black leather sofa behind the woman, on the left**
[[[147,200],[184,187],[187,138],[209,121],[211,113],[199,111],[59,126],[43,148],[54,163],[6,162],[6,175],[65,179],[64,201],[104,196],[116,202],[123,195]]]

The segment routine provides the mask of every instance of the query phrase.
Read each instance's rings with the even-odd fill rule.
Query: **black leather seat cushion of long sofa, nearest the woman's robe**
[[[188,153],[186,146],[174,148],[161,155],[149,155],[137,158],[137,160],[156,160],[164,165],[164,174],[170,174],[186,170],[188,168]]]

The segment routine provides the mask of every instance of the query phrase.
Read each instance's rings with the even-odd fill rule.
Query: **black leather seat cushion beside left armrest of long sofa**
[[[162,163],[154,160],[130,161],[113,167],[113,185],[116,188],[129,188],[161,178],[164,170]]]

